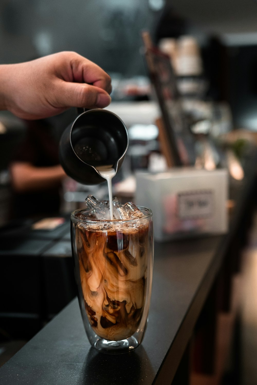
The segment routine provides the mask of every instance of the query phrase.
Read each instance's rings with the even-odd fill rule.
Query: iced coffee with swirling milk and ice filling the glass
[[[101,170],[104,177],[106,170]],[[110,171],[111,174],[111,171]],[[115,174],[115,171],[114,171]],[[111,183],[110,183],[111,185]],[[88,203],[97,201],[88,197]],[[113,206],[110,200],[110,211]],[[105,202],[100,203],[101,215]],[[89,206],[92,221],[76,226],[79,273],[87,317],[94,332],[118,341],[138,329],[146,300],[149,221],[132,203],[120,206],[114,198],[111,221],[94,220],[96,206]],[[121,209],[122,208],[122,209]],[[127,218],[116,218],[118,215]],[[141,218],[142,217],[142,218]],[[87,216],[90,218],[90,216]],[[131,220],[132,219],[132,220]]]

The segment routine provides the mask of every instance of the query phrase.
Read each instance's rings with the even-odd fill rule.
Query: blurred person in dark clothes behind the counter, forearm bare
[[[10,181],[13,192],[12,217],[56,216],[60,209],[62,180],[58,140],[45,119],[24,120],[27,132],[13,151]]]

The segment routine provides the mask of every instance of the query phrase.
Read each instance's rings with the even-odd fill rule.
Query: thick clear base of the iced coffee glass
[[[136,338],[129,337],[121,341],[109,341],[104,338],[99,338],[94,344],[94,347],[102,353],[117,354],[131,352],[139,345]]]

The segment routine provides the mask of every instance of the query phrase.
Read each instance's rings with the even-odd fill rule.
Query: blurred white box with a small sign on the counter
[[[222,234],[228,228],[226,169],[174,168],[136,173],[135,202],[153,211],[156,241],[199,234]]]

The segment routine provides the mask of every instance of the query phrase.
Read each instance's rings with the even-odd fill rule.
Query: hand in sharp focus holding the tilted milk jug
[[[76,52],[0,65],[0,109],[22,119],[43,119],[69,107],[103,108],[110,93],[109,75]]]

